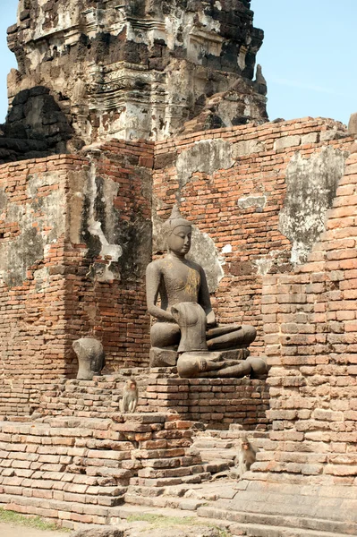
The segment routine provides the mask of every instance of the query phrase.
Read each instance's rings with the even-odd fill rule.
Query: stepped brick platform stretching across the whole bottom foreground
[[[0,506],[70,529],[146,514],[197,516],[234,537],[357,536],[354,488],[319,476],[267,482],[254,465],[229,478],[245,434],[237,425],[194,432],[164,413],[0,422]],[[268,433],[248,435],[264,457]]]

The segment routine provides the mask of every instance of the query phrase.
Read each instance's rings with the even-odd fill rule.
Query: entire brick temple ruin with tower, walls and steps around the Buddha
[[[6,509],[76,528],[174,506],[233,535],[357,535],[355,130],[268,122],[250,4],[19,1],[0,136]],[[149,369],[144,272],[177,200],[217,319],[257,328],[268,379]],[[79,337],[104,345],[103,376],[75,378]],[[246,431],[257,461],[212,499]]]

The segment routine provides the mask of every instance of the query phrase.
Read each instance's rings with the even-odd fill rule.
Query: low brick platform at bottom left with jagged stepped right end
[[[186,453],[190,429],[191,422],[160,413],[0,422],[0,505],[60,524],[106,524],[131,482],[155,487],[207,477],[200,456]]]

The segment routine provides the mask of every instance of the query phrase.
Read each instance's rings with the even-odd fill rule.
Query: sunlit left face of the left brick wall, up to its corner
[[[65,357],[65,191],[82,158],[0,166],[1,413],[21,413],[34,383],[71,371]],[[29,409],[29,406],[28,406]]]

